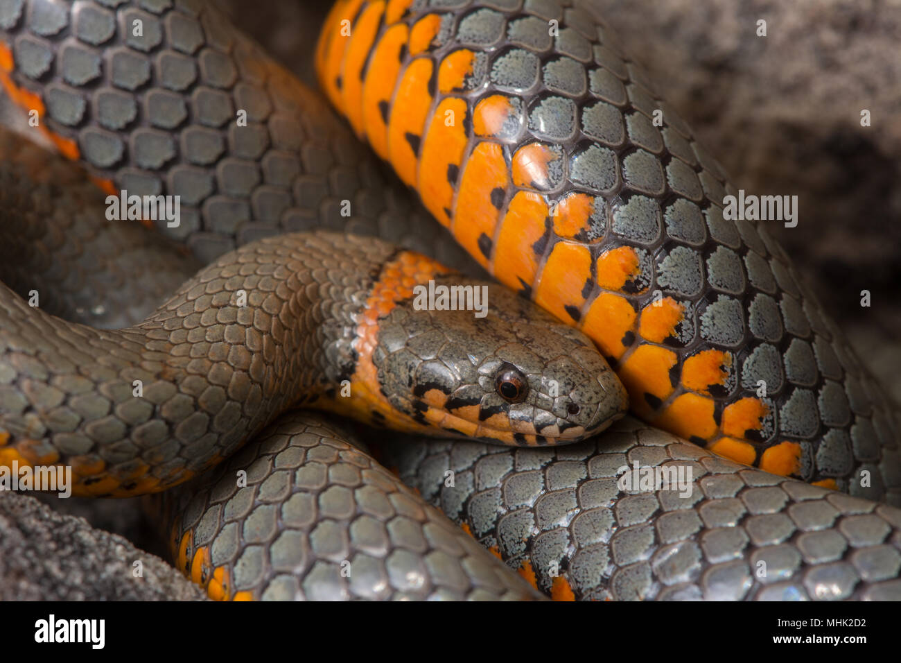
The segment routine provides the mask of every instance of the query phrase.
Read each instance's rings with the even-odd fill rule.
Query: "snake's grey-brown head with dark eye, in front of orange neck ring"
[[[395,410],[432,434],[523,446],[576,442],[623,416],[622,384],[577,329],[502,286],[456,274],[434,286],[487,307],[447,310],[436,295],[379,321],[372,358]]]

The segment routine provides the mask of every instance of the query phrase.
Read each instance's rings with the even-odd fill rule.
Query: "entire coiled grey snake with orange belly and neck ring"
[[[120,428],[130,436],[136,429],[117,419],[118,405],[131,403],[126,399],[132,381],[120,383],[118,391],[106,389],[117,409],[87,412],[84,425],[93,437],[62,437],[73,449],[79,443],[86,450],[96,446],[94,456],[68,459],[78,456],[77,475],[96,494],[162,490],[202,473],[185,486],[193,485],[193,493],[182,487],[161,493],[161,510],[175,514],[169,520],[175,522],[170,543],[177,566],[211,596],[489,597],[486,588],[492,587],[491,597],[507,598],[539,597],[536,588],[557,599],[897,598],[901,518],[890,506],[901,503],[896,410],[766,224],[724,215],[724,198],[737,191],[723,168],[676,111],[651,92],[641,68],[585,5],[337,2],[315,51],[328,102],[213,7],[176,5],[0,5],[0,84],[40,118],[41,131],[59,152],[86,166],[82,184],[91,180],[114,197],[123,190],[180,196],[177,227],[145,219],[158,231],[153,242],[160,250],[166,243],[183,244],[188,257],[212,263],[200,278],[220,285],[225,280],[217,270],[253,263],[259,252],[289,262],[291,255],[302,255],[292,266],[304,270],[323,251],[329,258],[340,255],[338,247],[345,244],[357,247],[349,271],[332,274],[341,271],[334,266],[339,259],[317,273],[350,279],[358,291],[364,290],[361,279],[378,283],[373,268],[384,262],[360,257],[373,252],[383,260],[406,255],[430,265],[427,276],[447,277],[430,258],[407,253],[414,249],[475,277],[490,275],[520,296],[492,290],[492,300],[511,310],[524,311],[531,300],[535,306],[527,316],[514,313],[517,327],[533,316],[543,320],[540,327],[551,327],[538,312],[543,309],[578,332],[571,336],[560,325],[552,327],[560,347],[578,347],[577,353],[562,354],[560,347],[550,348],[552,359],[569,360],[565,368],[555,366],[562,383],[576,390],[564,397],[564,410],[542,410],[552,423],[539,417],[523,422],[530,432],[514,430],[514,410],[505,406],[499,419],[508,428],[481,436],[493,436],[491,444],[399,437],[375,452],[396,468],[394,478],[331,421],[305,423],[293,413],[273,422],[278,408],[248,415],[212,442],[189,443],[187,448],[204,447],[207,455],[179,456],[167,469],[179,465],[181,474],[153,474],[134,462],[134,445],[107,441]],[[329,103],[344,121],[332,115]],[[377,157],[418,194],[421,205],[406,197]],[[28,198],[33,197],[23,196],[25,207],[47,205]],[[411,226],[429,240],[407,234]],[[343,233],[308,232],[313,228]],[[380,235],[406,246],[390,249],[374,239],[360,244],[351,235]],[[276,272],[286,273],[268,263],[254,275],[252,288],[248,282],[251,292],[266,283],[270,304],[278,299],[273,293],[279,286],[268,278]],[[19,282],[22,293],[33,281]],[[405,297],[386,290],[389,298]],[[0,308],[7,319],[25,321],[49,338],[94,345],[105,360],[87,372],[102,382],[110,374],[105,364],[140,363],[142,352],[152,362],[171,361],[162,356],[168,350],[162,332],[172,331],[167,323],[177,326],[207,313],[219,322],[217,294],[189,281],[158,309],[157,318],[118,335],[40,318],[6,290]],[[222,298],[217,306],[228,305]],[[259,295],[260,310],[271,316],[265,301]],[[89,318],[103,315],[101,308],[80,309]],[[340,311],[329,313],[341,317]],[[389,341],[404,345],[414,336],[412,327],[390,319],[392,313],[410,315],[410,308],[398,306],[378,318],[379,327],[387,320],[395,333],[405,329],[407,337]],[[315,322],[322,325],[324,319]],[[267,353],[267,339],[276,330],[292,333],[281,323],[258,329],[269,333],[259,344],[268,361],[274,350],[269,345]],[[184,336],[170,343],[186,343],[177,355],[184,359],[174,366],[190,365],[208,351],[224,352],[224,346],[210,350],[217,336],[206,338],[188,324],[193,329],[186,325],[179,330]],[[509,327],[487,331],[486,346],[496,345],[497,334],[513,331]],[[481,347],[481,326],[473,328],[470,338],[479,340],[466,345],[458,339],[460,345]],[[442,322],[432,331],[441,336],[447,329]],[[317,332],[319,347],[330,333],[327,324]],[[53,406],[46,403],[59,404],[68,393],[58,393],[56,385],[51,387],[57,391],[41,388],[41,375],[48,373],[44,353],[54,352],[52,343],[41,345],[41,337],[14,336],[19,345],[11,353],[6,325],[0,336],[6,348],[0,359],[5,461],[53,463],[55,455],[67,454],[47,435]],[[529,340],[530,352],[540,337],[536,332]],[[420,358],[427,364],[438,345],[427,334],[422,338]],[[600,354],[587,352],[581,338]],[[305,350],[307,358],[314,356]],[[69,352],[87,355],[75,344]],[[227,364],[223,371],[233,371],[240,351],[235,355],[215,356]],[[582,401],[587,394],[576,389],[572,372],[585,370],[574,368],[575,356],[576,364],[599,367],[580,384],[603,392],[611,400],[604,407],[599,399]],[[299,368],[300,360],[279,359]],[[72,363],[61,353],[55,360]],[[487,386],[478,383],[479,397],[503,399],[500,378],[511,375],[532,396],[542,395],[543,385],[535,394],[538,385],[523,381],[517,364],[522,361],[515,357]],[[428,413],[432,423],[446,423],[448,410],[473,405],[471,399],[448,398],[459,376],[447,369],[460,364],[459,357],[435,364],[437,379],[420,385],[426,391],[405,391],[412,385],[395,381],[399,391],[370,389],[374,401],[345,402],[342,413],[372,423],[369,413],[378,411],[407,432],[423,432]],[[264,380],[296,379],[277,377],[275,365],[259,367]],[[319,364],[328,373],[323,365],[339,364]],[[632,415],[599,437],[579,441],[622,413],[626,397],[607,366],[622,382]],[[408,366],[403,370],[410,374]],[[357,369],[349,371],[345,367],[337,377],[346,378],[351,391],[366,391],[354,380]],[[368,373],[371,378],[373,371]],[[178,389],[200,399],[211,382],[194,377],[200,379]],[[96,407],[94,393],[85,388],[90,410]],[[296,394],[277,398],[299,403]],[[323,400],[342,402],[333,394]],[[150,402],[154,428],[169,432],[175,419],[159,427],[167,419],[165,403]],[[123,410],[129,408],[137,409]],[[191,442],[203,437],[197,422],[209,419],[205,410],[199,400],[193,408],[183,405],[184,422],[190,421],[184,430],[188,437],[199,433]],[[604,410],[605,416],[572,425],[573,418],[588,416],[586,410]],[[109,411],[114,415],[107,416]],[[478,415],[466,411],[454,415],[445,430],[484,434],[479,416],[490,408]],[[68,424],[59,414],[52,423]],[[546,436],[545,426],[562,438]],[[250,441],[205,471],[257,433],[259,442]],[[158,435],[170,445],[177,439],[175,427],[171,435]],[[544,447],[549,442],[567,444]],[[691,468],[687,496],[653,486],[622,487],[617,477],[632,463]],[[295,468],[292,478],[287,470]],[[246,485],[235,484],[241,471]],[[378,489],[360,482],[377,483]],[[448,529],[433,505],[463,527]],[[429,521],[443,524],[432,527]],[[494,555],[477,555],[474,539]],[[350,561],[355,554],[359,564]],[[509,568],[493,564],[497,557],[517,573],[502,573]],[[361,566],[362,577],[343,575],[345,562]]]

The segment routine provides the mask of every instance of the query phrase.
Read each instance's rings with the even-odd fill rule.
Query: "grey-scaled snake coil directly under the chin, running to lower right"
[[[901,509],[739,465],[632,417],[557,449],[402,439],[381,457],[555,599],[901,599]],[[646,486],[635,464],[679,482]]]

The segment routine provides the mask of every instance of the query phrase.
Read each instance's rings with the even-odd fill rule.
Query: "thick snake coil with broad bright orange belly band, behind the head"
[[[883,392],[585,9],[340,0],[316,58],[357,133],[498,281],[595,341],[637,416],[901,505]]]

